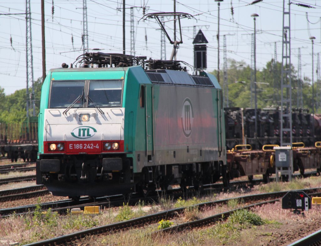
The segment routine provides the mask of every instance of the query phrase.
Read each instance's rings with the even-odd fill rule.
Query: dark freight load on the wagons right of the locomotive
[[[264,145],[280,145],[280,108],[257,109],[258,128],[255,132],[253,108],[224,108],[226,147],[231,150],[235,145],[250,144],[253,149]],[[243,118],[242,118],[243,115]],[[290,136],[283,132],[283,141],[290,142]],[[306,109],[292,110],[292,142],[303,142],[314,147],[321,140],[321,115],[312,116]]]

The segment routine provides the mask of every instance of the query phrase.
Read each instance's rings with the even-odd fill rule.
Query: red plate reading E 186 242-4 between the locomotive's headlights
[[[101,152],[101,141],[68,141],[66,142],[66,152]]]

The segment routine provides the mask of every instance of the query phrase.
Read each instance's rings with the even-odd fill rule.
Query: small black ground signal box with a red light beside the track
[[[311,197],[304,191],[289,191],[282,197],[282,209],[308,211],[311,209]]]

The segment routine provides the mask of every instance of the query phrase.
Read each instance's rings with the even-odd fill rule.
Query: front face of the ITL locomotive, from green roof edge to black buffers
[[[119,194],[133,186],[124,152],[125,72],[112,70],[52,69],[46,78],[37,184],[54,195]]]

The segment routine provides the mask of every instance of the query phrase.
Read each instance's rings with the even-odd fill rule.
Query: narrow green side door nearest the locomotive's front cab
[[[153,99],[153,87],[152,85],[145,85],[145,129],[146,129],[146,156],[148,161],[152,161],[152,155],[154,155],[154,99]]]

